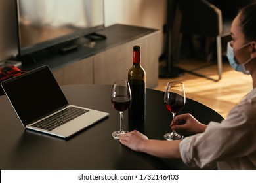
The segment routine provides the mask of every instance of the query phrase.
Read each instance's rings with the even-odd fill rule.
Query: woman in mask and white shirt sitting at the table
[[[240,10],[232,22],[231,36],[230,65],[251,75],[253,90],[230,110],[226,120],[203,125],[190,114],[182,114],[171,122],[171,128],[195,135],[182,141],[160,141],[132,131],[119,137],[121,144],[161,158],[181,158],[190,167],[217,162],[218,169],[256,169],[256,3]]]

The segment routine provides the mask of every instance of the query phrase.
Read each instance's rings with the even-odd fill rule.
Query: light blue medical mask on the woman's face
[[[250,42],[248,44],[250,44]],[[244,46],[247,46],[248,44],[245,44]],[[241,48],[244,48],[244,46],[242,46]],[[239,49],[241,49],[241,48],[239,48]],[[246,63],[248,63],[249,61],[251,61],[251,59],[248,59],[247,61],[245,61],[245,63],[237,64],[236,60],[234,58],[234,48],[232,48],[232,46],[230,45],[230,42],[228,42],[228,48],[227,48],[227,53],[226,54],[227,54],[227,57],[228,57],[228,61],[229,61],[230,65],[231,65],[231,67],[234,70],[236,70],[238,72],[242,72],[245,75],[249,75],[250,74],[250,72],[248,70],[246,70],[244,65]]]

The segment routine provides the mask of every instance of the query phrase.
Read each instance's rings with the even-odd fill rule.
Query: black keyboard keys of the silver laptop
[[[51,131],[88,111],[89,110],[85,110],[83,108],[69,107],[32,126]]]

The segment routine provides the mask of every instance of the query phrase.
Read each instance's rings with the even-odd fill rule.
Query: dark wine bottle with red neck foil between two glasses
[[[142,120],[146,114],[146,72],[140,65],[140,46],[133,46],[133,66],[128,72],[131,87],[131,107],[128,109],[129,119]]]

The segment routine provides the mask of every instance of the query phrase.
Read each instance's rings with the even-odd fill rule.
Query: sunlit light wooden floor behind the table
[[[179,67],[184,69],[194,69],[200,65],[205,65],[205,61],[196,59],[179,61]],[[217,65],[197,72],[217,78]],[[165,91],[167,82],[170,81],[183,82],[186,97],[212,108],[223,118],[226,118],[230,109],[252,89],[251,76],[234,71],[227,61],[223,63],[223,75],[218,82],[184,73],[184,76],[177,78],[159,78],[158,86],[154,89]]]

